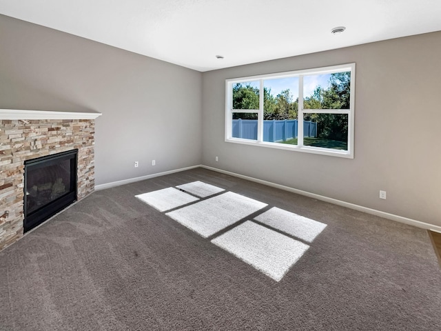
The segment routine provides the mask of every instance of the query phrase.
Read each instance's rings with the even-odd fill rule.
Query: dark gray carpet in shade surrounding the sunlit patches
[[[327,227],[276,282],[134,197],[192,181]],[[0,294],[2,331],[441,330],[427,232],[205,169],[94,192],[0,252]]]

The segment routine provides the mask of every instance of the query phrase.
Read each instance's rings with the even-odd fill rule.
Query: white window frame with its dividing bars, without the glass
[[[351,72],[351,95],[349,109],[303,109],[303,77],[314,74],[331,74],[336,72]],[[268,148],[278,148],[281,150],[294,150],[296,152],[307,152],[314,154],[330,155],[334,157],[345,157],[353,159],[353,137],[354,137],[354,106],[355,106],[355,76],[356,63],[341,64],[338,66],[328,66],[322,68],[296,70],[290,72],[279,72],[276,74],[261,74],[251,77],[240,77],[227,79],[225,81],[225,141],[228,143],[242,143],[245,145],[262,146]],[[267,79],[279,79],[287,77],[298,77],[298,141],[297,145],[287,145],[283,143],[272,143],[263,141],[263,82]],[[259,109],[233,109],[233,86],[236,83],[246,83],[249,81],[259,81]],[[251,112],[258,114],[257,140],[241,139],[232,137],[232,119],[234,112]],[[321,148],[303,145],[303,114],[347,114],[348,115],[348,141],[347,150],[336,150],[331,148]]]

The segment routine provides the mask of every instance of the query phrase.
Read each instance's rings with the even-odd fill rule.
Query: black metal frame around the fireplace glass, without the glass
[[[57,197],[53,201],[42,205],[40,208],[28,213],[28,174],[29,170],[37,170],[39,168],[45,168],[50,165],[55,165],[61,161],[70,160],[70,188],[68,192]],[[27,232],[37,225],[40,225],[44,221],[48,220],[57,212],[60,212],[68,205],[72,204],[77,199],[78,191],[78,174],[77,174],[77,162],[78,150],[68,150],[57,154],[51,154],[45,157],[39,157],[37,159],[30,159],[24,161],[25,174],[24,174],[24,220],[23,220],[23,232]]]

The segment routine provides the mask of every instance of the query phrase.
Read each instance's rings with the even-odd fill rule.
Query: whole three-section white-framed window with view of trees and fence
[[[355,63],[227,79],[225,141],[353,158]]]

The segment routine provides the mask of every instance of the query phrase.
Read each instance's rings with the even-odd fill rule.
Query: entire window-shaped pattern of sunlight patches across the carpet
[[[177,185],[176,188],[139,194],[136,198],[165,212],[168,217],[203,238],[217,235],[211,241],[214,245],[275,281],[283,279],[309,249],[307,243],[312,243],[327,226],[277,207],[258,214],[267,203],[224,191],[202,181],[193,181]],[[211,197],[214,194],[218,195]],[[251,215],[254,213],[258,216],[252,221]],[[219,233],[229,226],[231,230]]]

